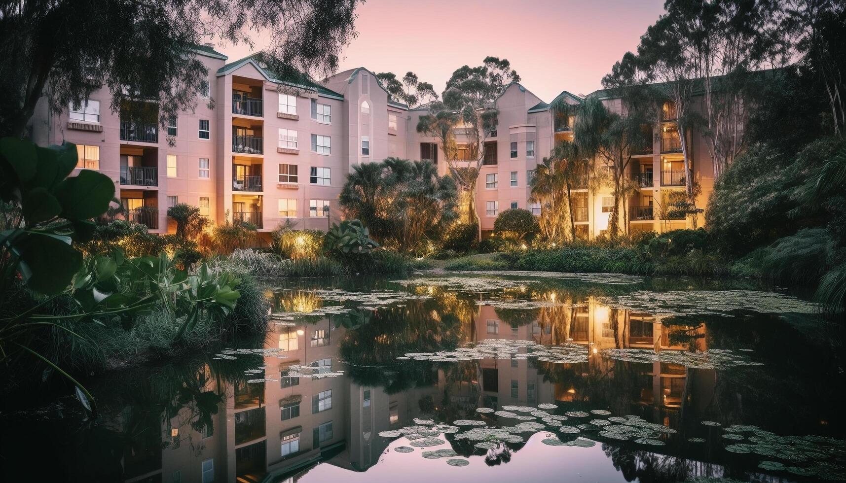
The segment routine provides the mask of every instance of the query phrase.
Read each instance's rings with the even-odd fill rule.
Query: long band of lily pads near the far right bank
[[[805,300],[755,290],[640,291],[601,296],[598,301],[616,309],[637,310],[655,316],[725,316],[734,310],[796,314],[816,312],[815,305]]]

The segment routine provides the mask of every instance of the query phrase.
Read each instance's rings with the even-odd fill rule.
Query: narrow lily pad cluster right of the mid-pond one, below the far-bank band
[[[728,369],[745,365],[764,365],[755,362],[744,354],[734,354],[731,349],[707,349],[701,352],[686,350],[662,350],[655,352],[651,349],[604,349],[602,355],[613,360],[626,362],[664,362],[684,365],[694,369]]]

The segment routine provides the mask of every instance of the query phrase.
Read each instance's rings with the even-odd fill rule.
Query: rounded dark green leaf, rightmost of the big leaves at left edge
[[[108,209],[114,196],[114,182],[103,173],[84,169],[79,175],[65,178],[56,187],[62,204],[62,216],[69,220],[99,217]]]

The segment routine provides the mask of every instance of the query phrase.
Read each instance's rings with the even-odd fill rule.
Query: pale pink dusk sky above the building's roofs
[[[588,94],[663,11],[663,0],[368,0],[340,69],[402,77],[409,70],[440,93],[453,70],[508,58],[521,83],[546,102]],[[256,48],[262,47],[256,39]],[[243,46],[222,47],[230,59]]]

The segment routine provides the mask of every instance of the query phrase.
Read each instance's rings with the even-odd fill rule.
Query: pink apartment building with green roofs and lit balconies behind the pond
[[[277,80],[260,55],[227,63],[211,46],[195,54],[208,68],[207,84],[195,110],[170,119],[167,129],[155,122],[154,102],[148,107],[155,114],[151,122],[138,122],[111,112],[111,96],[101,89],[84,106],[59,115],[41,102],[33,140],[76,144],[80,169],[112,177],[128,217],[152,233],[173,231],[167,209],[176,203],[199,206],[216,223],[250,222],[260,233],[286,221],[325,230],[342,217],[338,194],[354,164],[397,156],[430,159],[440,173],[448,172],[436,140],[416,130],[426,108],[394,102],[365,68],[298,85]],[[570,103],[582,99],[567,91],[559,97]],[[619,99],[603,102],[620,107]],[[572,119],[557,118],[550,106],[518,83],[497,100],[498,126],[487,140],[476,195],[483,232],[508,208],[540,214],[540,206],[529,202],[530,177],[557,140],[572,137]],[[686,226],[684,219],[662,220],[657,209],[669,191],[684,189],[673,109],[665,111],[653,128],[660,135],[632,163],[630,175],[640,187],[629,200],[632,230]],[[698,162],[707,159],[704,144],[692,137],[702,186],[698,206],[704,206],[713,176],[710,163]],[[461,134],[456,138],[460,144]],[[581,236],[593,238],[607,228],[610,200],[602,189],[578,190]]]

